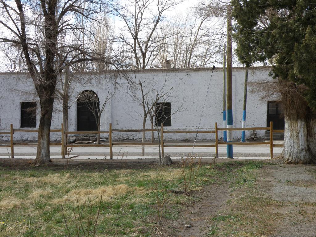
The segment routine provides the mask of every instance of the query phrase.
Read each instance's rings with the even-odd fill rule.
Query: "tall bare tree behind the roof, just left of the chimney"
[[[155,37],[165,13],[183,0],[127,0],[113,1],[114,14],[124,21],[125,27],[118,37],[127,50],[132,50],[136,68],[147,68],[157,57],[162,39]],[[155,6],[155,7],[153,7]],[[124,49],[124,48],[123,48]]]

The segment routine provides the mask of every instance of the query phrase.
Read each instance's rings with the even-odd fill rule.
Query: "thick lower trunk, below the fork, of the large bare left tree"
[[[49,143],[53,104],[54,97],[52,94],[46,95],[44,99],[40,99],[41,114],[38,132],[37,154],[34,161],[35,165],[41,165],[51,161]]]

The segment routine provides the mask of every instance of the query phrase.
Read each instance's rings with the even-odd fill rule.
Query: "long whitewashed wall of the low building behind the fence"
[[[269,79],[269,67],[257,67],[249,70],[248,82],[262,81]],[[165,130],[196,130],[208,84],[210,90],[206,99],[200,130],[213,129],[215,122],[222,127],[222,95],[223,95],[223,73],[221,68],[216,68],[211,77],[212,69],[150,69],[127,71],[130,80],[138,82],[146,81],[145,88],[150,88],[153,81],[155,88],[160,88],[167,80],[165,88],[174,88],[170,97],[171,109],[174,110],[181,106],[181,112],[172,115],[171,126],[165,127]],[[233,68],[233,122],[234,127],[241,127],[243,90],[244,90],[244,68]],[[107,73],[84,73],[80,74],[81,81],[74,80],[70,90],[69,103],[69,131],[77,131],[84,121],[81,119],[80,111],[77,107],[77,98],[84,90],[94,91],[102,104],[108,93],[112,94],[112,99],[106,104],[105,111],[101,116],[101,130],[108,131],[109,123],[116,129],[141,129],[142,107],[131,96],[131,89],[125,77],[115,76],[119,85],[115,86],[109,83],[113,75]],[[112,80],[113,81],[113,80]],[[147,83],[147,84],[146,84]],[[36,96],[32,79],[27,73],[0,73],[0,130],[9,131],[10,124],[14,128],[27,127],[29,121],[24,121],[23,106],[29,106],[29,103],[37,102],[36,122],[33,120],[31,129],[39,126],[40,108],[38,97]],[[140,93],[140,91],[137,91]],[[260,99],[260,94],[250,93],[248,90],[247,98],[247,127],[265,127],[268,122],[268,102],[274,101],[273,98],[266,100]],[[270,113],[274,112],[276,105],[271,103]],[[62,123],[62,109],[60,100],[55,99],[54,113],[52,119],[52,129],[59,129]],[[276,110],[276,109],[275,109]],[[281,107],[279,109],[281,113]],[[79,118],[80,117],[80,118]],[[24,119],[24,120],[23,120]],[[91,119],[91,118],[90,118]],[[281,125],[282,126],[282,125]],[[148,120],[147,128],[150,128]],[[246,131],[246,137],[249,137],[251,131]],[[263,137],[265,131],[258,131],[258,136]],[[107,134],[105,134],[107,137]],[[150,133],[146,136],[150,137]],[[220,134],[220,137],[222,134]],[[240,132],[234,132],[234,139],[240,138]],[[165,134],[166,139],[183,140],[194,139],[195,134]],[[140,139],[141,133],[113,133],[114,139]],[[198,139],[214,139],[214,134],[199,134]],[[3,135],[0,140],[9,140],[9,135]],[[36,133],[15,132],[16,140],[36,140]],[[59,140],[60,133],[51,133],[51,139]]]

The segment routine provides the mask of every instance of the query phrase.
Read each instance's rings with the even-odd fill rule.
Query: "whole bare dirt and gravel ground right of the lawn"
[[[206,186],[195,194],[198,201],[181,211],[178,220],[166,223],[157,236],[315,237],[316,166],[272,164],[253,174],[257,177],[252,188]],[[261,200],[264,203],[258,203]],[[227,219],[216,224],[212,217],[218,213]],[[214,224],[217,230],[210,233]]]

